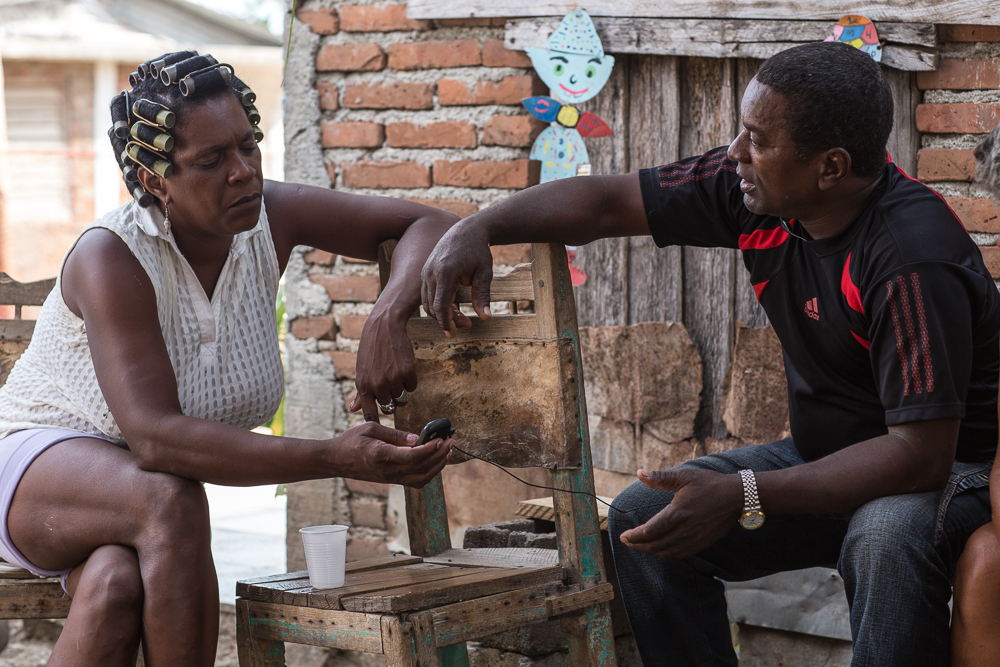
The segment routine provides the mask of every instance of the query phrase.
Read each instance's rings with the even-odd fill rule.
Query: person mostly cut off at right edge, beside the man
[[[1000,125],[976,146],[976,180],[1000,208]],[[990,473],[993,521],[969,538],[955,573],[952,667],[1000,665],[1000,458]]]

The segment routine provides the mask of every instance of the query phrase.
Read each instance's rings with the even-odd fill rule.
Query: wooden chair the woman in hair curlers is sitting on
[[[34,320],[22,319],[21,309],[42,305],[55,284],[55,278],[19,283],[0,273],[0,306],[14,307],[14,319],[0,319],[0,384],[7,381],[35,329]],[[58,578],[39,578],[0,561],[0,619],[66,618],[69,602]]]

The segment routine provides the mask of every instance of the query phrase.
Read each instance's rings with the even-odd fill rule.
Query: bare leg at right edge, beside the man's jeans
[[[1000,543],[988,523],[969,538],[955,574],[951,667],[1000,665]]]

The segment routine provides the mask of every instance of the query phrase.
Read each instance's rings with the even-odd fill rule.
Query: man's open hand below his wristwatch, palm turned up
[[[622,533],[636,551],[664,558],[688,558],[736,527],[743,510],[739,475],[712,470],[640,470],[639,480],[651,489],[673,490],[673,502],[641,526]]]

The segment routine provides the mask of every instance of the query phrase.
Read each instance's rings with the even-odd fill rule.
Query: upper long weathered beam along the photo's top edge
[[[836,21],[861,14],[872,21],[1000,25],[993,0],[410,0],[411,19],[563,16],[585,9],[591,16],[635,18],[808,19]]]

